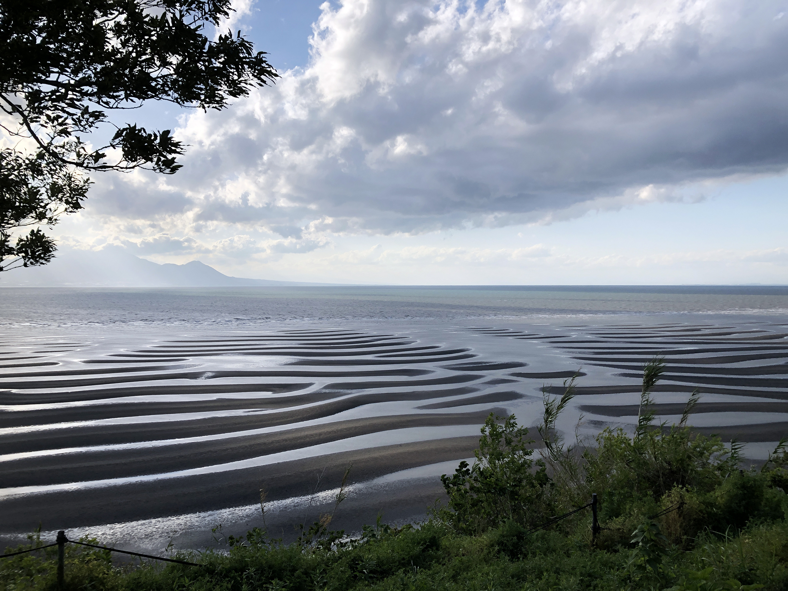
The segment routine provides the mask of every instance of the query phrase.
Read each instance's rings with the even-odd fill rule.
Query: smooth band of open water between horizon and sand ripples
[[[786,312],[788,286],[0,289],[8,328]]]

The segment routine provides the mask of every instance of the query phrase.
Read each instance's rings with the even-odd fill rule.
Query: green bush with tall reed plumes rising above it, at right
[[[567,447],[555,433],[556,418],[574,396],[574,379],[564,382],[560,400],[545,394],[542,435],[550,478],[559,496],[578,505],[597,492],[602,519],[611,520],[654,511],[674,489],[696,493],[715,490],[738,470],[742,446],[726,448],[716,436],[704,437],[687,426],[699,400],[693,392],[678,425],[655,426],[652,389],[663,371],[661,359],[647,363],[643,372],[640,411],[633,434],[624,429],[604,429],[591,446]],[[584,448],[582,453],[579,448]],[[568,507],[567,502],[564,502]],[[639,519],[639,518],[637,518]]]

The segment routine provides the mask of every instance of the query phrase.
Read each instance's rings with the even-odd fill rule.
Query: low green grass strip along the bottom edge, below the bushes
[[[65,589],[666,589],[687,571],[712,567],[703,589],[730,589],[731,579],[764,589],[788,589],[788,525],[784,520],[749,526],[738,535],[704,533],[694,548],[667,548],[663,581],[638,573],[634,551],[592,548],[589,522],[564,531],[523,537],[504,524],[478,535],[455,533],[433,519],[418,528],[381,528],[340,549],[245,541],[229,554],[190,554],[204,567],[177,564],[113,567],[107,552],[71,548]],[[46,552],[46,551],[42,551]],[[6,559],[2,589],[56,589],[54,553]],[[686,587],[685,587],[686,588]],[[736,588],[736,587],[733,587]]]

